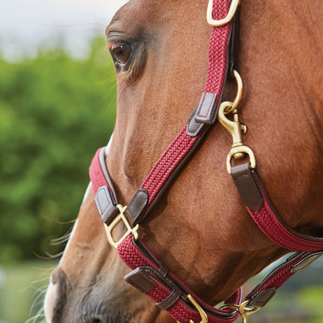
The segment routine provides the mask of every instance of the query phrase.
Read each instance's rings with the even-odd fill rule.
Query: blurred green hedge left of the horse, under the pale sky
[[[77,217],[95,150],[115,118],[112,61],[104,39],[74,60],[57,49],[0,58],[0,263],[34,258]]]

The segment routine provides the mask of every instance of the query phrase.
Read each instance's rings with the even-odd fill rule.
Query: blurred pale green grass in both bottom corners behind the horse
[[[0,323],[22,323],[37,314],[44,300],[48,277],[57,263],[37,260],[0,265]],[[310,272],[304,270],[303,275],[308,274]],[[322,323],[323,284],[295,288],[296,282],[302,280],[300,276],[291,284],[288,282],[265,308],[249,317],[249,323]],[[44,317],[35,322],[41,322],[41,319]]]

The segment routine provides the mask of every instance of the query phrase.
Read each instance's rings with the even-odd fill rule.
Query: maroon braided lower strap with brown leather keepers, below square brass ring
[[[234,322],[237,318],[238,314],[235,310],[216,309],[200,300],[175,275],[168,269],[165,270],[164,265],[140,239],[136,241],[132,235],[129,235],[119,244],[117,251],[124,263],[133,269],[133,272],[126,275],[126,282],[136,288],[139,282],[141,285],[138,289],[157,304],[162,305],[177,321],[183,323],[190,322],[190,319],[194,322],[200,321],[199,313],[186,298],[187,294],[195,298],[211,323]],[[166,274],[163,275],[162,272]],[[240,303],[241,297],[242,292],[239,289],[228,302]]]

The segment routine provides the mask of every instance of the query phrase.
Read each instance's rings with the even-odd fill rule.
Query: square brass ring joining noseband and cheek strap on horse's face
[[[128,237],[128,235],[130,235],[131,233],[133,234],[133,237],[137,240],[138,228],[139,228],[139,225],[136,225],[135,228],[132,228],[130,223],[128,223],[128,218],[126,218],[126,216],[124,215],[124,211],[126,211],[126,206],[122,206],[118,204],[117,209],[119,209],[120,213],[116,218],[114,218],[112,223],[110,223],[110,225],[106,225],[105,223],[103,223],[105,225],[105,232],[107,232],[107,241],[115,249],[117,249],[117,246],[119,246],[119,244],[121,244],[121,242],[123,242],[124,239],[126,239],[126,237]],[[115,242],[112,237],[112,231],[121,221],[124,223],[124,225],[126,225],[127,230],[126,230],[126,233],[117,242]]]

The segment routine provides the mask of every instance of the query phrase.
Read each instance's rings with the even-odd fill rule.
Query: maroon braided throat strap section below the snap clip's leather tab
[[[291,251],[319,251],[323,249],[323,242],[303,239],[289,231],[277,218],[277,215],[268,204],[267,197],[263,195],[263,206],[259,211],[248,209],[251,217],[263,233],[273,242]]]

